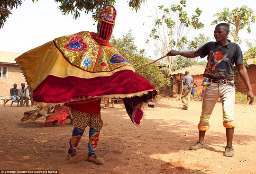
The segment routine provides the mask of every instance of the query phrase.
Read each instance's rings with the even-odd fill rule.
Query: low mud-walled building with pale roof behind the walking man
[[[195,83],[198,84],[198,86],[201,86],[202,81],[204,79],[203,73],[205,70],[204,66],[199,66],[199,65],[192,65],[186,68],[182,68],[180,70],[176,70],[171,72],[171,80],[173,82],[173,87],[172,87],[172,96],[176,94],[181,94],[182,92],[182,82],[183,78],[185,77],[185,71],[188,70],[189,74],[192,76],[192,78],[195,80]],[[202,90],[202,87],[196,87],[195,92],[198,90]]]

